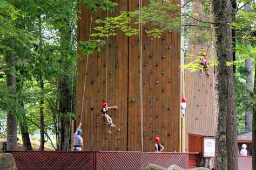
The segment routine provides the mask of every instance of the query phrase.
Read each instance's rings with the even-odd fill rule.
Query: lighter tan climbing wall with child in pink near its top
[[[202,13],[200,3],[193,2],[192,12]],[[202,15],[200,16],[202,17]],[[191,34],[188,42],[188,54],[192,54],[193,57],[186,59],[186,63],[195,60],[199,52],[206,52],[208,60],[212,57],[209,46],[210,41],[204,40],[204,42],[198,43],[196,37]],[[187,133],[215,134],[213,67],[208,66],[208,70],[210,73],[209,77],[207,77],[205,72],[202,77],[199,77],[200,70],[197,72],[185,71],[185,97],[187,98],[185,118]]]

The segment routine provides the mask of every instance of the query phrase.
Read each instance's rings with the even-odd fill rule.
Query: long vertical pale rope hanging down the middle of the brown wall
[[[142,0],[139,0],[139,19],[142,17]],[[142,86],[142,23],[139,21],[139,73],[140,73],[140,133],[142,138],[143,152],[143,86]]]

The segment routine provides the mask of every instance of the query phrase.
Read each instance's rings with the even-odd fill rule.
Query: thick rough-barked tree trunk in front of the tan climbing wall
[[[226,62],[233,61],[232,55],[232,16],[229,0],[212,1],[214,33],[217,38],[215,53],[218,66],[214,66],[214,104],[217,116],[215,145],[215,169],[238,169],[237,126],[235,111],[235,93],[233,67]]]

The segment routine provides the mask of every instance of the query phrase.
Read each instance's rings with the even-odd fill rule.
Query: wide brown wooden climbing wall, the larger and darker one
[[[139,1],[114,1],[119,5],[109,17],[120,11],[139,9]],[[121,3],[122,2],[122,3]],[[143,1],[147,5],[149,1]],[[78,41],[89,39],[91,11],[82,5],[79,14]],[[97,18],[106,17],[106,11],[93,14],[92,27]],[[138,25],[131,24],[138,28]],[[118,31],[116,37],[108,39],[108,45],[89,55],[85,95],[83,89],[86,56],[79,52],[77,76],[77,124],[82,114],[84,150],[86,151],[154,151],[154,140],[160,137],[165,152],[179,151],[180,138],[180,34],[171,30],[161,38],[150,38],[144,30],[152,29],[144,25],[142,29],[143,58],[143,122],[140,119],[140,71],[139,36],[126,37]],[[106,70],[106,51],[108,51]],[[107,71],[107,73],[106,73]],[[107,79],[106,79],[107,74]],[[110,110],[116,128],[103,122],[102,103],[107,87],[107,103],[117,105],[118,110]],[[134,102],[133,102],[134,100]],[[83,112],[82,112],[82,107]]]

